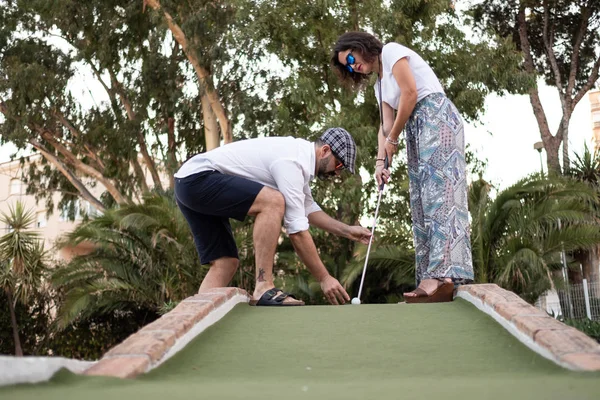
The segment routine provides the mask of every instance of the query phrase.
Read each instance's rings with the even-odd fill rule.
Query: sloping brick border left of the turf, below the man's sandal
[[[235,287],[212,289],[188,297],[113,347],[83,374],[117,378],[143,374],[173,356],[236,304],[247,303],[249,299],[245,290]]]

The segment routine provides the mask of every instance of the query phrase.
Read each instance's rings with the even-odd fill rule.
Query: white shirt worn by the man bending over
[[[285,199],[283,223],[288,234],[308,230],[308,215],[321,210],[310,191],[315,173],[315,147],[307,140],[268,137],[229,143],[190,158],[175,177],[185,178],[210,170],[246,178],[281,192]]]

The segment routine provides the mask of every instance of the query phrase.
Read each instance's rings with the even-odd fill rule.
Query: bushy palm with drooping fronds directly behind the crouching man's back
[[[173,195],[151,193],[143,200],[109,209],[60,241],[62,247],[87,242],[94,249],[52,276],[64,296],[59,326],[116,310],[159,313],[198,290],[206,268]]]

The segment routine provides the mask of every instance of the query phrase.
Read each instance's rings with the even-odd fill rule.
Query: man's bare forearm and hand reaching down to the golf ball
[[[325,297],[331,304],[344,304],[350,296],[337,279],[329,274],[321,261],[315,242],[309,231],[300,231],[289,235],[292,245],[310,273],[319,281]]]

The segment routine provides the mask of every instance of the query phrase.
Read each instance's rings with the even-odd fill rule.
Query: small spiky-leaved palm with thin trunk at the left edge
[[[10,232],[0,237],[0,287],[8,300],[15,355],[22,356],[23,349],[19,338],[19,328],[15,313],[17,302],[28,304],[41,286],[45,272],[45,252],[37,232],[29,228],[35,221],[35,214],[25,210],[23,203],[9,207],[8,214],[0,216]]]

